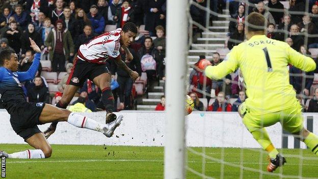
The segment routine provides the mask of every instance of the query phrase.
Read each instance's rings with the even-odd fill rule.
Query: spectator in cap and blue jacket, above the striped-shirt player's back
[[[98,8],[96,5],[91,6],[90,12],[87,14],[87,18],[90,19],[93,31],[96,34],[101,34],[102,32],[104,32],[105,19],[103,16],[98,14]]]

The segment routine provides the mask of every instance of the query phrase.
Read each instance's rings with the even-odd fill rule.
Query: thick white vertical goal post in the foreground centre
[[[167,1],[165,178],[184,178],[184,100],[188,54],[188,1]],[[180,90],[181,89],[181,90]]]

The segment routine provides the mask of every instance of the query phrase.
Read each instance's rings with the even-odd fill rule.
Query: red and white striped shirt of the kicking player
[[[121,29],[104,33],[80,46],[77,58],[90,63],[105,63],[109,57],[116,58],[120,52]]]

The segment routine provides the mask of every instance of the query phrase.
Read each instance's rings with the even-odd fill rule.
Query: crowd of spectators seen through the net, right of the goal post
[[[311,56],[308,49],[318,48],[318,1],[233,0],[227,2],[229,2],[231,17],[226,41],[229,50],[245,40],[245,17],[251,12],[258,12],[267,19],[268,38],[285,41],[306,56]],[[288,4],[287,8],[282,2],[285,5]],[[306,6],[306,3],[309,6]],[[213,53],[210,63],[217,65],[222,61],[222,59],[218,60],[218,57],[220,57],[218,53]],[[199,61],[202,59],[205,57],[201,56]],[[314,60],[316,63],[318,62],[316,58]],[[231,76],[226,76],[219,81],[209,81],[209,79],[204,79],[204,75],[201,74],[203,71],[198,69],[196,64],[190,74],[190,91],[195,92],[201,101],[207,103],[205,109],[196,109],[199,111],[237,111],[238,105],[245,100],[244,76],[240,75],[240,71],[237,70]],[[316,104],[318,89],[313,86],[314,73],[318,70],[304,72],[292,65],[289,65],[288,68],[289,83],[301,100],[304,111],[318,112]]]

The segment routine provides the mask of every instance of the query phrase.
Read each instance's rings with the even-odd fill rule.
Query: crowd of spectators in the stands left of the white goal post
[[[19,58],[19,70],[26,71],[34,58],[30,37],[42,50],[41,61],[50,61],[45,73],[56,72],[59,76],[58,82],[48,81],[47,84],[41,76],[40,66],[35,80],[23,85],[29,101],[56,104],[62,96],[80,45],[107,32],[108,27],[115,30],[126,22],[134,22],[141,32],[144,31],[137,34],[135,43],[131,44],[129,50],[134,60],[126,64],[140,76],[146,72],[147,85],[165,79],[166,0],[7,0],[0,1],[0,10],[0,51],[13,49]],[[121,56],[125,61],[124,50]],[[114,111],[117,107],[133,109],[133,80],[112,60],[108,61],[107,67],[112,73],[114,97],[119,99],[119,105],[115,99]],[[49,92],[52,83],[59,92]],[[72,105],[84,105],[90,111],[104,108],[100,103],[101,92],[90,80],[85,82],[76,96],[78,99]]]

